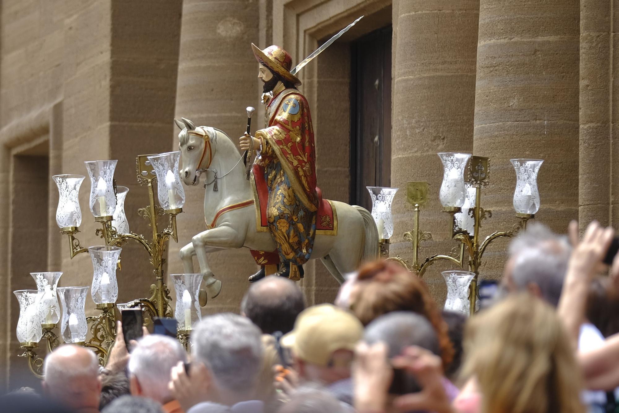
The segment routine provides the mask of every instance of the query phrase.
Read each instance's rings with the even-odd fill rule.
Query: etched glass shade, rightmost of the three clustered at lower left
[[[60,333],[66,343],[83,342],[88,333],[86,323],[86,295],[88,287],[58,287],[58,297],[63,306]]]

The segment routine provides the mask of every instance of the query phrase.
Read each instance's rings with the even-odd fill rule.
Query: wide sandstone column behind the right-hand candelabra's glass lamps
[[[509,229],[515,173],[509,159],[545,160],[537,220],[565,232],[578,217],[579,2],[480,0],[474,151],[488,156],[482,231]],[[506,240],[484,256],[482,278],[498,278]]]

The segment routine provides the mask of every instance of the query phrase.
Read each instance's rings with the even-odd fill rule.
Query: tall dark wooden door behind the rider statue
[[[366,186],[391,183],[391,26],[352,43],[350,203],[371,209]]]

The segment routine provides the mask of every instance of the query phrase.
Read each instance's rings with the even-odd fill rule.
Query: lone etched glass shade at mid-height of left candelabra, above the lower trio
[[[95,304],[115,303],[118,300],[116,262],[123,248],[118,246],[91,246],[92,258],[92,300]]]

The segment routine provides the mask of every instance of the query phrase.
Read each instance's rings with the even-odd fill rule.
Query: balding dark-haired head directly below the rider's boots
[[[282,277],[266,277],[251,284],[241,302],[241,314],[264,334],[288,333],[304,309],[301,289]]]

